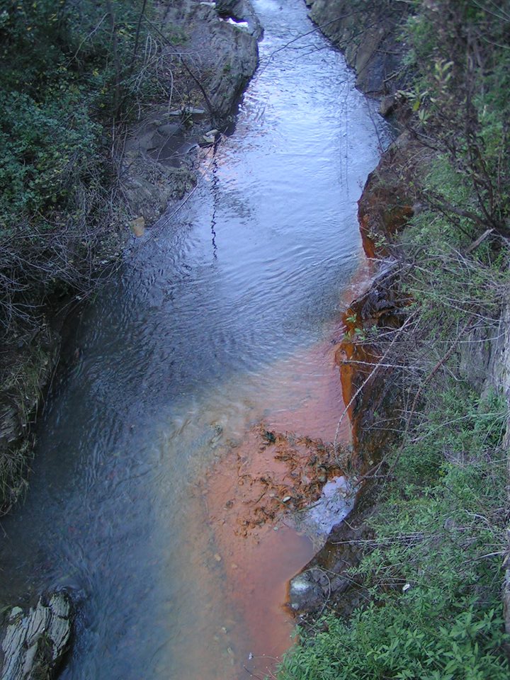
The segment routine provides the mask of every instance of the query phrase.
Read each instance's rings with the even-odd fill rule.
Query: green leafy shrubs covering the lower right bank
[[[280,680],[503,680],[506,405],[446,390],[412,441],[355,570],[370,604],[289,652]]]

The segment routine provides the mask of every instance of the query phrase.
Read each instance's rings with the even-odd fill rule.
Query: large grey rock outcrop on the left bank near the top
[[[232,125],[259,61],[261,26],[249,0],[166,7],[163,26],[179,26],[183,47],[162,41],[162,86],[169,101],[132,125],[121,181],[130,219],[150,225],[196,184],[197,149]],[[175,91],[181,92],[176,98]]]

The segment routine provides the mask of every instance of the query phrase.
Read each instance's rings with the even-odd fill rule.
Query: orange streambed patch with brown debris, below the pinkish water
[[[205,488],[217,560],[241,613],[251,672],[271,668],[290,646],[292,616],[283,606],[287,583],[314,554],[312,543],[285,526],[285,514],[316,500],[324,482],[341,474],[331,446],[276,433],[259,424],[211,471]],[[239,640],[242,650],[246,640]]]

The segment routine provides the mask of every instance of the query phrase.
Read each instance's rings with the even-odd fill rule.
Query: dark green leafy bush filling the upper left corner
[[[115,140],[152,91],[152,2],[6,0],[0,9],[0,328],[30,327],[49,293],[91,285],[120,226]],[[140,69],[144,69],[144,77]]]

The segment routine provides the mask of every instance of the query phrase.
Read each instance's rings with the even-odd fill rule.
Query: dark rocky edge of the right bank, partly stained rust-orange
[[[407,16],[404,5],[395,3],[388,12],[384,1],[371,4],[368,11],[362,4],[342,0],[334,6],[323,0],[310,4],[310,17],[344,52],[356,72],[358,88],[378,97],[386,115],[395,113],[395,92],[401,79],[399,63],[404,49],[400,45],[396,51],[396,46],[398,28]],[[399,114],[404,118],[402,111]],[[413,167],[408,163],[416,152],[416,143],[401,129],[368,176],[358,201],[365,256],[387,257],[368,289],[344,313],[346,335],[336,351],[346,415],[351,421],[351,464],[361,478],[395,439],[389,433],[397,421],[399,386],[392,368],[380,366],[383,350],[377,343],[369,343],[368,336],[374,329],[398,329],[406,316],[390,244],[414,211],[410,180],[419,161]],[[373,539],[366,520],[376,509],[376,487],[373,480],[361,483],[351,513],[334,526],[324,547],[291,582],[290,604],[300,621],[313,623],[327,605],[349,616],[363,604],[363,587],[349,575],[349,570],[358,564],[365,545]]]

